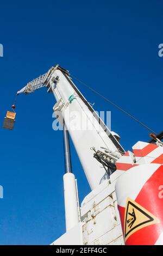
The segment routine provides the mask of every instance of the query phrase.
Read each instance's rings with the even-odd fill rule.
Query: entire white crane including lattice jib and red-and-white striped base
[[[160,137],[152,134],[151,142],[137,142],[133,151],[125,151],[120,136],[108,129],[75,86],[69,71],[60,65],[27,83],[17,95],[42,87],[54,94],[53,111],[63,126],[65,149],[66,233],[52,244],[163,244],[162,202],[148,200],[148,190],[156,198],[161,191],[159,182],[163,184]],[[69,135],[91,187],[81,206],[72,173]],[[158,186],[158,191],[152,186]],[[154,231],[149,236],[151,227]]]

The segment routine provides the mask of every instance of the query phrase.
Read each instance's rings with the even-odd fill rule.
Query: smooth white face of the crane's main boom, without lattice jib
[[[93,152],[90,148],[105,147],[114,152],[117,151],[117,148],[62,72],[55,70],[51,78],[52,81],[53,76],[59,77],[59,82],[52,86],[55,99],[57,102],[61,100],[64,103],[60,115],[65,120],[86,178],[93,190],[102,181],[108,179],[108,175],[102,168],[102,164],[93,159]],[[49,84],[52,84],[52,81],[49,81]],[[68,102],[71,95],[76,97],[72,103]]]

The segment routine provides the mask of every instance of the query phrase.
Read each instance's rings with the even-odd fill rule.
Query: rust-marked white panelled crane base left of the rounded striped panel
[[[79,245],[78,234],[82,234],[82,245],[124,245],[115,184],[116,181],[105,180],[91,191],[81,205],[80,225],[67,231],[52,245],[72,245],[72,241]]]

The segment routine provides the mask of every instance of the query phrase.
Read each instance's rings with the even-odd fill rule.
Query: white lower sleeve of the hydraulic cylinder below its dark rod
[[[66,231],[79,223],[78,197],[76,180],[73,173],[64,175]]]

